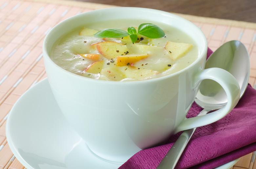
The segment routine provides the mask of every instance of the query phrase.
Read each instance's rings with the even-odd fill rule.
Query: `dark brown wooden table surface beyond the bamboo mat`
[[[256,0],[76,0],[256,23]]]

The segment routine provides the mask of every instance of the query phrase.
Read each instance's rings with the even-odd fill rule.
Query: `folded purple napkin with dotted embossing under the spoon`
[[[208,49],[207,57],[211,53]],[[196,116],[201,110],[193,103],[187,118]],[[119,169],[155,169],[180,134],[171,136],[164,145],[139,151]],[[256,90],[248,85],[228,115],[196,129],[176,168],[212,169],[253,151],[256,151]]]

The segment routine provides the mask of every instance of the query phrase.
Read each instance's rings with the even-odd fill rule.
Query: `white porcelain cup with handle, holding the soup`
[[[51,47],[59,37],[87,23],[110,19],[150,20],[174,26],[196,42],[199,57],[172,75],[129,82],[78,76],[50,59]],[[92,152],[117,162],[164,143],[179,131],[213,123],[235,107],[240,96],[237,81],[223,69],[204,70],[206,53],[206,38],[196,25],[171,13],[146,8],[106,8],[76,15],[53,27],[43,43],[46,73],[64,116]],[[203,79],[220,83],[228,103],[218,112],[187,119]]]

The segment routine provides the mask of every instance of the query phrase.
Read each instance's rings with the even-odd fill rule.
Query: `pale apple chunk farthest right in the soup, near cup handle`
[[[167,41],[167,43],[165,44],[165,50],[168,51],[170,57],[173,60],[176,60],[184,56],[191,47],[192,47],[192,44],[188,44],[188,43]]]

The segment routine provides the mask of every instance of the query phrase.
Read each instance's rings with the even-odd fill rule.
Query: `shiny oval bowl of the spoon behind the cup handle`
[[[241,98],[250,74],[250,60],[245,45],[239,41],[224,43],[207,59],[205,69],[212,67],[224,69],[236,78],[240,86]],[[204,109],[220,109],[227,104],[227,97],[218,83],[206,79],[199,86],[195,102]]]

